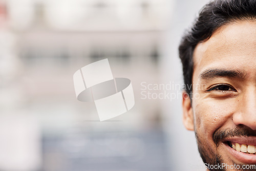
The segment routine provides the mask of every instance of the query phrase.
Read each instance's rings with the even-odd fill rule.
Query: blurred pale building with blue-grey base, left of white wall
[[[0,53],[8,49],[8,55],[1,58],[0,105],[7,115],[35,119],[19,124],[27,128],[37,123],[31,128],[37,132],[14,132],[13,139],[32,137],[35,150],[29,154],[37,160],[23,168],[11,159],[7,166],[0,160],[0,169],[168,170],[160,101],[141,100],[140,84],[159,81],[170,9],[167,0],[3,1],[2,29],[8,37]],[[129,113],[98,122],[94,103],[76,100],[73,74],[104,58],[114,77],[132,80],[136,104]]]

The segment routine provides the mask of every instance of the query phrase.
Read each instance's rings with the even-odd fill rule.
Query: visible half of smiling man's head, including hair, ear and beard
[[[256,1],[207,4],[181,41],[183,124],[207,170],[256,170]]]

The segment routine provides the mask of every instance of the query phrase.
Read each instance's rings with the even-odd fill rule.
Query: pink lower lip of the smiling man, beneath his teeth
[[[238,152],[234,148],[231,148],[227,143],[225,144],[225,147],[227,148],[228,152],[237,160],[247,163],[247,164],[255,164],[256,163],[256,155],[246,154],[243,152]]]

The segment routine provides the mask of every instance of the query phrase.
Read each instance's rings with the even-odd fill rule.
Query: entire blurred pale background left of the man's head
[[[206,2],[1,0],[0,170],[205,170],[182,124],[178,45]],[[73,74],[105,58],[135,106],[100,122]]]

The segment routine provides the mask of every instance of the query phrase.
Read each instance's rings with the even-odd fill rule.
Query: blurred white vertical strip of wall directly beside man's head
[[[207,0],[177,0],[173,7],[172,20],[165,37],[165,52],[161,60],[161,76],[163,80],[182,84],[182,65],[179,59],[178,46],[185,29],[193,23],[199,10]],[[169,136],[169,154],[171,170],[205,170],[204,163],[198,152],[195,133],[185,130],[182,124],[181,90],[175,89],[178,96],[172,101],[162,102],[165,116],[165,131]]]

